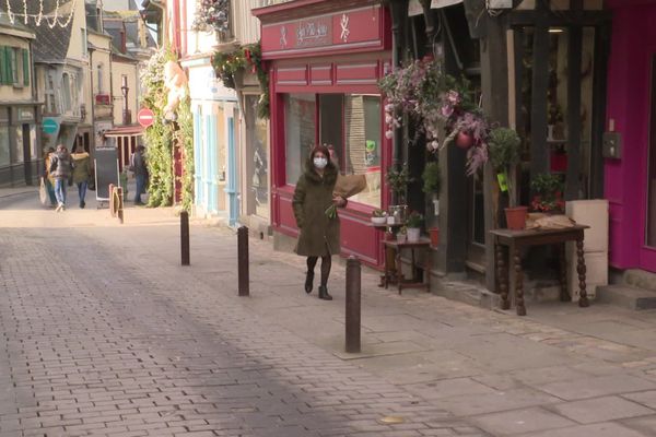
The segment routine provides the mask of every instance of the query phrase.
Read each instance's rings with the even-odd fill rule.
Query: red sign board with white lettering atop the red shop
[[[262,55],[283,58],[306,51],[383,49],[380,5],[262,25]]]

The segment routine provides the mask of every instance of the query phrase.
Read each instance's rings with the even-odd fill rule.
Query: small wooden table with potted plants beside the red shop
[[[387,284],[389,284],[390,274],[394,272],[397,276],[397,286],[399,288],[399,294],[403,288],[425,288],[426,292],[431,290],[431,239],[426,237],[420,237],[419,241],[403,241],[399,243],[396,239],[389,241],[383,241],[386,249],[396,251],[396,265],[389,265],[387,261],[387,257],[385,257],[385,275],[384,275],[384,285],[387,288]],[[410,249],[412,251],[412,279],[406,280],[403,277],[403,273],[401,271],[401,251],[403,249]],[[414,250],[422,249],[424,251],[424,265],[418,265],[417,259],[414,257]],[[417,270],[423,271],[424,280],[423,282],[419,281],[417,277]]]

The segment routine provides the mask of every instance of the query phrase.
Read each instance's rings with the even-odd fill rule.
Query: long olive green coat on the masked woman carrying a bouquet
[[[324,177],[308,163],[296,182],[294,191],[294,216],[301,229],[296,253],[304,257],[324,257],[340,252],[339,216],[326,215],[332,204],[332,190],[337,181],[337,168],[328,164]]]

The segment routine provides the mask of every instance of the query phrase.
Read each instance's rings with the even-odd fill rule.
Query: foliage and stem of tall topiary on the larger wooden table
[[[515,167],[519,163],[522,139],[514,129],[494,128],[490,132],[489,152],[494,169],[507,184],[511,208],[516,206]]]

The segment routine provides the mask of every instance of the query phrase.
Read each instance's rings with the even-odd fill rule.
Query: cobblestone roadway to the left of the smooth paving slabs
[[[213,284],[175,226],[3,228],[0,436],[483,435],[258,317],[206,234]]]

